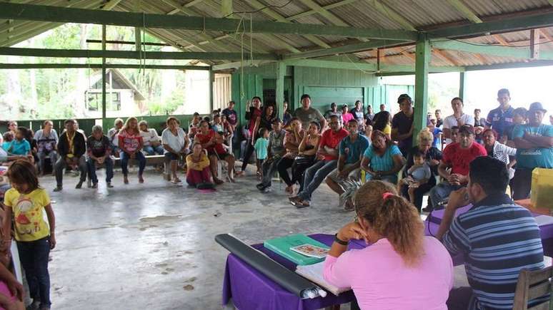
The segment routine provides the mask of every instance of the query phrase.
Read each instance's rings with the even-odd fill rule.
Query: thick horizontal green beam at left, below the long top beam
[[[249,53],[216,52],[161,52],[161,51],[101,51],[52,48],[11,48],[0,47],[0,55],[34,56],[56,58],[124,58],[124,59],[198,59],[198,60],[240,60],[249,59]],[[276,60],[276,55],[254,53],[257,60]]]

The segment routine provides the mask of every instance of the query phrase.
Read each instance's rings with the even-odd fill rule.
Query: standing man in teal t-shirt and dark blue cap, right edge
[[[547,110],[534,102],[528,109],[528,123],[513,130],[517,147],[517,169],[513,177],[514,200],[526,199],[530,194],[532,170],[553,168],[553,126],[542,123]]]

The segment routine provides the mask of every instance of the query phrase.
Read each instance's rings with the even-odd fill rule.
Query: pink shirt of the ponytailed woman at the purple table
[[[447,310],[453,286],[453,263],[447,249],[435,238],[424,237],[418,267],[404,265],[388,239],[365,249],[327,256],[324,279],[339,287],[352,287],[361,309]]]

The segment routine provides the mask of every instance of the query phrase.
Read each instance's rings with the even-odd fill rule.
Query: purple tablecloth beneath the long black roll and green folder
[[[332,234],[312,234],[309,237],[329,246],[334,241]],[[366,246],[359,240],[349,243],[349,249],[362,249]],[[291,270],[296,269],[296,264],[266,249],[263,244],[254,244],[252,247],[259,249],[284,267]],[[234,254],[229,254],[229,257],[226,258],[223,280],[223,304],[228,304],[231,298],[234,306],[240,310],[309,310],[351,302],[354,299],[354,294],[353,291],[347,291],[339,296],[329,293],[324,298],[300,299],[299,296],[282,288]]]

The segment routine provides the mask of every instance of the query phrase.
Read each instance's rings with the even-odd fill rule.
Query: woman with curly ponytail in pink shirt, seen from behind
[[[361,309],[446,310],[452,258],[424,237],[417,209],[382,181],[365,183],[354,197],[357,222],[342,227],[324,262],[324,279],[351,287]],[[365,249],[347,251],[350,239]]]

